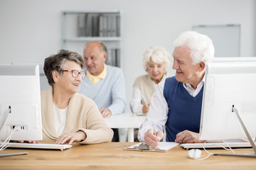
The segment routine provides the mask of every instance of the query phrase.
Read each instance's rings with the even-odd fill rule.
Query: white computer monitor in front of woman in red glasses
[[[0,65],[0,140],[42,140],[38,65]]]

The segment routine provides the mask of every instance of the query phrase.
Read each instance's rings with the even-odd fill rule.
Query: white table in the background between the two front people
[[[139,128],[146,116],[137,116],[134,113],[121,113],[104,118],[110,128],[128,128],[128,142],[134,142],[134,128]]]

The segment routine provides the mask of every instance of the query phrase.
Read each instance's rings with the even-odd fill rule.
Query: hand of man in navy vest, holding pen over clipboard
[[[164,133],[162,131],[156,132],[154,135],[154,130],[148,130],[144,135],[144,142],[151,147],[157,147],[159,145],[159,141],[164,137]]]

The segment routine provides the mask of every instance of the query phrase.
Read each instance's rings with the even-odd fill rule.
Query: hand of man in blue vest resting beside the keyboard
[[[204,140],[199,140],[199,133],[184,130],[176,135],[177,143],[203,143]]]

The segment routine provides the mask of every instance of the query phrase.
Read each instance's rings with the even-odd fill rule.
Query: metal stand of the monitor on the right
[[[253,142],[252,137],[250,136],[249,132],[247,131],[247,128],[245,128],[245,124],[242,122],[242,119],[240,118],[240,115],[238,113],[238,110],[235,108],[235,106],[232,106],[232,112],[235,112],[235,114],[238,117],[239,122],[242,125],[243,130],[245,131],[245,134],[250,141],[250,144],[252,145],[252,149],[254,150],[254,154],[226,154],[226,153],[213,153],[213,155],[225,155],[225,156],[237,156],[237,157],[255,157],[256,158],[256,145],[255,142]]]

